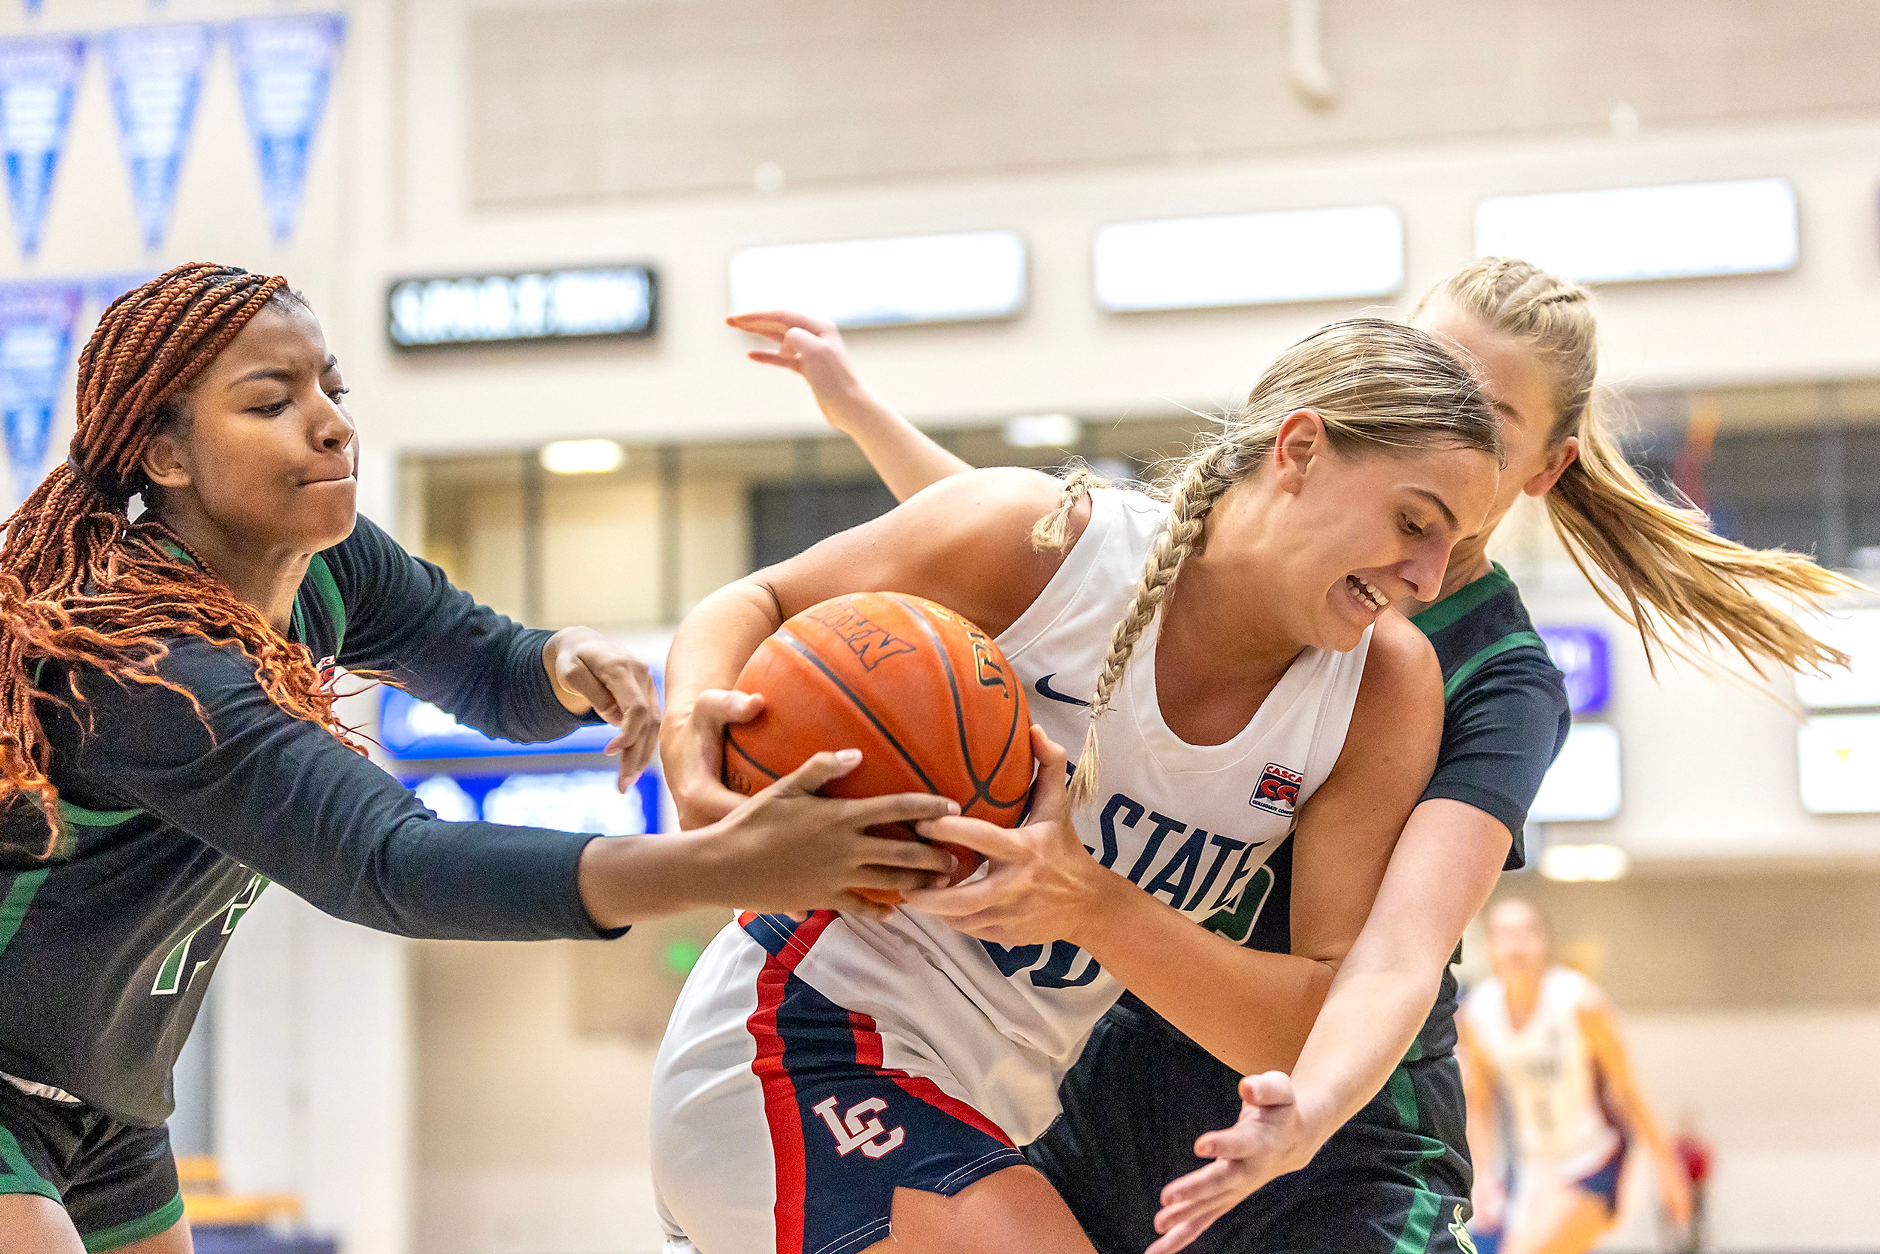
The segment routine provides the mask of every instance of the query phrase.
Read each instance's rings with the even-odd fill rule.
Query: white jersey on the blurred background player
[[[1500,1081],[1517,1166],[1553,1166],[1577,1175],[1596,1169],[1619,1147],[1598,1068],[1579,1030],[1579,1008],[1590,989],[1577,970],[1549,966],[1534,1013],[1519,1030],[1508,1017],[1500,980],[1483,981],[1463,1002],[1470,1045]]]

